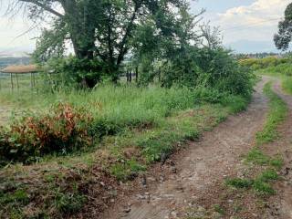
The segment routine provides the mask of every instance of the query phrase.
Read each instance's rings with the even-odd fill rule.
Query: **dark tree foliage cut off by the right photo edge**
[[[278,49],[287,50],[292,40],[292,4],[287,5],[285,19],[278,24],[278,33],[274,36]]]

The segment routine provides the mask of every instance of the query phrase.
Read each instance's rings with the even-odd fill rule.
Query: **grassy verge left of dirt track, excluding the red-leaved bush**
[[[69,102],[86,108],[96,128],[118,131],[62,156],[51,153],[31,165],[8,163],[0,170],[0,218],[98,214],[122,193],[120,182],[164,161],[248,102],[206,90],[157,87],[103,86],[92,92],[31,95],[6,93],[0,99],[45,115],[56,99]]]

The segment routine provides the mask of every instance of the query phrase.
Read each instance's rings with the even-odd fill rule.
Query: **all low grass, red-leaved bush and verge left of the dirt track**
[[[20,218],[62,218],[92,204],[102,211],[117,193],[115,182],[164,161],[229,113],[244,110],[249,100],[217,89],[155,84],[1,94],[5,104],[30,111],[17,110],[1,129],[1,197],[10,201],[1,203],[0,215]],[[14,198],[17,188],[26,202]],[[89,202],[93,194],[106,198]]]

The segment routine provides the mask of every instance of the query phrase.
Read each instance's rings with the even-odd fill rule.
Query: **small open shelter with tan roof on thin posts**
[[[27,65],[27,66],[9,66],[2,70],[0,73],[5,73],[10,75],[11,89],[15,89],[13,76],[16,76],[16,88],[19,89],[19,75],[27,75],[30,74],[30,87],[33,89],[36,87],[36,77],[35,74],[38,72],[38,68],[36,65]],[[1,84],[0,84],[1,89]]]

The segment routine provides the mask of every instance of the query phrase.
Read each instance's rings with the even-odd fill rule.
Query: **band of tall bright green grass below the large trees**
[[[158,86],[138,88],[134,85],[102,85],[88,90],[59,91],[57,93],[0,92],[0,101],[14,106],[46,111],[51,104],[68,102],[84,107],[95,120],[106,120],[120,126],[159,122],[175,111],[192,109],[201,102],[222,103],[234,111],[243,110],[246,99],[210,89],[171,88]]]

